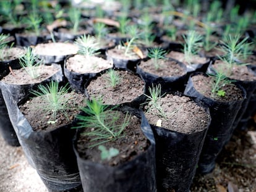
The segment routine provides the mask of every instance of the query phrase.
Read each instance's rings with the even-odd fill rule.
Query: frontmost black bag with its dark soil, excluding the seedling
[[[90,138],[82,135],[83,128],[77,131],[74,148],[84,191],[156,191],[155,140],[144,115],[139,114],[141,120],[130,116],[121,138],[103,143],[106,149],[119,150],[109,161],[100,158],[98,147],[88,149]]]

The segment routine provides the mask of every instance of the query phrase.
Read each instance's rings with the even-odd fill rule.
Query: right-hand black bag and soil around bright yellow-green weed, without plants
[[[210,109],[211,124],[198,162],[198,173],[210,173],[215,160],[233,133],[233,122],[245,98],[239,85],[226,85],[224,98],[211,98],[210,77],[202,73],[191,75],[184,94],[200,99]],[[200,91],[200,92],[199,92]]]

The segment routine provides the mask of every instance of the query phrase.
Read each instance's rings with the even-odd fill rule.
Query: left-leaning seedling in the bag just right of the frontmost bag
[[[144,94],[145,96],[147,96],[147,104],[148,104],[148,111],[149,110],[154,110],[156,109],[157,114],[160,117],[163,117],[164,119],[167,119],[167,115],[166,113],[163,111],[162,107],[161,107],[161,103],[160,103],[160,99],[161,97],[164,96],[164,94],[161,95],[161,85],[158,84],[156,86],[152,85],[152,88],[148,88],[148,91],[150,93],[150,95]]]

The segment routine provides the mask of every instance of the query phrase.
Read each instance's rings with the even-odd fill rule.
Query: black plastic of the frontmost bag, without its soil
[[[150,140],[150,147],[143,154],[117,167],[110,167],[82,159],[76,149],[77,140],[74,140],[83,191],[156,191],[155,139],[147,119],[145,119],[142,112],[140,112],[140,115],[142,115],[142,131]]]

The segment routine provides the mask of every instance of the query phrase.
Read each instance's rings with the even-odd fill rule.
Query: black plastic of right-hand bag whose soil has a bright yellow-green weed
[[[210,109],[211,123],[198,162],[198,172],[210,173],[215,168],[216,157],[231,138],[234,131],[233,123],[244,99],[220,102],[207,98],[195,90],[191,77],[189,78],[184,94],[200,99]],[[245,98],[246,92],[243,88],[241,90]]]

